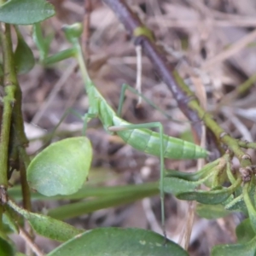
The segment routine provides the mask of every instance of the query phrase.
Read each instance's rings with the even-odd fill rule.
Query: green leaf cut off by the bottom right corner
[[[255,256],[256,237],[247,243],[218,245],[212,248],[211,256]]]

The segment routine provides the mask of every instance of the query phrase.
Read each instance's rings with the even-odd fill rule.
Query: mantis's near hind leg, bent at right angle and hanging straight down
[[[119,125],[108,127],[109,131],[125,131],[143,128],[158,128],[160,132],[160,201],[161,201],[161,224],[164,236],[166,237],[166,227],[165,227],[165,207],[164,207],[164,129],[160,122],[153,122],[147,124],[137,124],[137,125]]]

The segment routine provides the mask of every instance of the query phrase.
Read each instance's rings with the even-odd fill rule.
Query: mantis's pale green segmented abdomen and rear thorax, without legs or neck
[[[90,107],[94,111],[93,113],[101,119],[107,131],[110,126],[131,125],[116,115],[113,108],[108,105],[108,102],[96,89],[92,81],[87,80],[85,90],[89,97]],[[158,132],[143,128],[117,131],[116,133],[132,148],[147,154],[160,156],[160,134]],[[176,137],[164,135],[163,143],[164,157],[168,159],[199,159],[207,157],[207,150],[204,148]]]

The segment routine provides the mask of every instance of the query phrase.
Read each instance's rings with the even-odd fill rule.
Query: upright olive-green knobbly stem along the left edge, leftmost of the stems
[[[15,90],[17,86],[15,63],[13,59],[12,41],[9,24],[2,23],[1,43],[3,47],[3,118],[0,143],[0,185],[8,187],[8,152],[9,133],[12,118],[12,110],[15,105]]]

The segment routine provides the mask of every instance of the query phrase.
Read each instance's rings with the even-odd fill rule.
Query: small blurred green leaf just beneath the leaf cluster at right
[[[224,206],[222,205],[209,206],[209,205],[198,204],[196,206],[196,213],[201,218],[212,219],[212,218],[223,218],[229,215],[231,212],[225,210]]]

